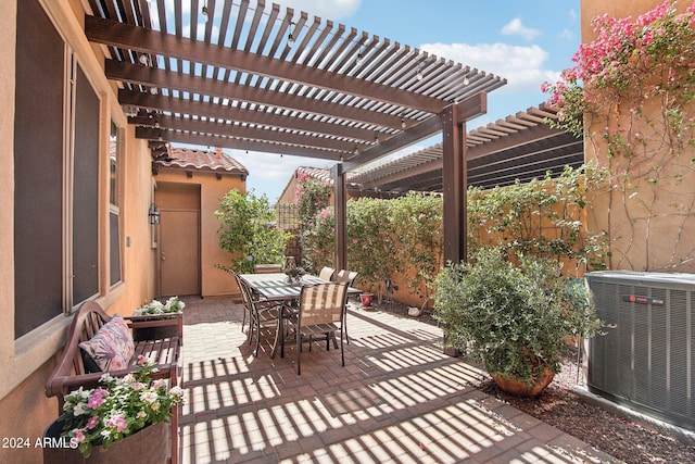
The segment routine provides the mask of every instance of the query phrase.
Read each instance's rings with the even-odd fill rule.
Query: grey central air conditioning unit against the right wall
[[[589,344],[590,391],[695,429],[695,275],[586,274],[607,335]]]

